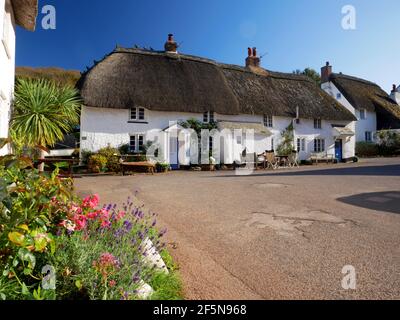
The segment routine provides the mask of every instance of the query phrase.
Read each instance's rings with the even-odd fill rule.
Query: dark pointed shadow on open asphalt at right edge
[[[352,206],[400,214],[400,192],[361,193],[337,199]]]

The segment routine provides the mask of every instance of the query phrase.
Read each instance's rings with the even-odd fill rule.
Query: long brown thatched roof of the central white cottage
[[[182,54],[117,48],[82,75],[86,106],[355,120],[305,76]]]

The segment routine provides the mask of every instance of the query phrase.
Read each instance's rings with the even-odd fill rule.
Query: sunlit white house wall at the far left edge
[[[15,77],[15,23],[9,0],[0,0],[0,70],[0,138],[6,138]],[[0,155],[8,151],[5,147],[0,150]]]

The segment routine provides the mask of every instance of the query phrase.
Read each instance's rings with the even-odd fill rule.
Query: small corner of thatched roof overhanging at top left
[[[15,22],[30,31],[35,30],[38,0],[11,0]]]

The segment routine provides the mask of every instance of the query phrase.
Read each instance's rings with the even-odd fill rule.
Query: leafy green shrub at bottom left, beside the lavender
[[[0,158],[0,299],[54,299],[42,290],[42,268],[56,250],[57,225],[65,218],[58,205],[73,199],[72,180],[59,169],[40,174],[27,158]]]

